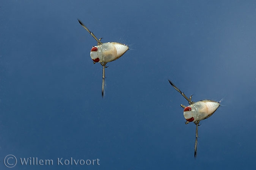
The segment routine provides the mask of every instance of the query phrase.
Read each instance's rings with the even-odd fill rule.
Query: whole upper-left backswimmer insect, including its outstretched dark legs
[[[97,41],[97,45],[93,46],[93,48],[91,49],[90,56],[94,64],[99,62],[103,66],[101,95],[102,97],[104,97],[105,68],[108,67],[106,66],[106,64],[108,62],[112,62],[116,59],[119,59],[121,56],[123,56],[123,54],[129,49],[129,46],[118,42],[102,43],[102,38],[97,39],[93,32],[91,32],[85,25],[83,25],[83,23],[80,20],[78,20],[78,22]]]

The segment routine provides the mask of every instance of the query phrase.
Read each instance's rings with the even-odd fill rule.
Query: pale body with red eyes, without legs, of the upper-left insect
[[[107,42],[93,46],[90,56],[94,62],[107,63],[119,59],[128,49],[125,44]]]

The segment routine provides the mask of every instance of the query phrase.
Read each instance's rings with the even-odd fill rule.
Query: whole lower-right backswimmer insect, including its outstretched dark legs
[[[196,124],[196,141],[195,141],[195,158],[197,155],[197,138],[198,138],[198,126],[199,122],[212,116],[217,108],[220,106],[220,102],[213,100],[200,100],[198,102],[192,102],[192,96],[189,98],[181,92],[170,80],[170,84],[175,88],[185,99],[188,101],[189,106],[181,105],[184,108],[184,117],[187,120],[185,124],[194,122]]]

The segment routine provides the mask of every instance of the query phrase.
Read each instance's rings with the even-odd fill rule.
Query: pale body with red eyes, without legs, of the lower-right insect
[[[202,121],[212,116],[219,106],[219,102],[201,100],[185,107],[184,117],[188,122]]]

